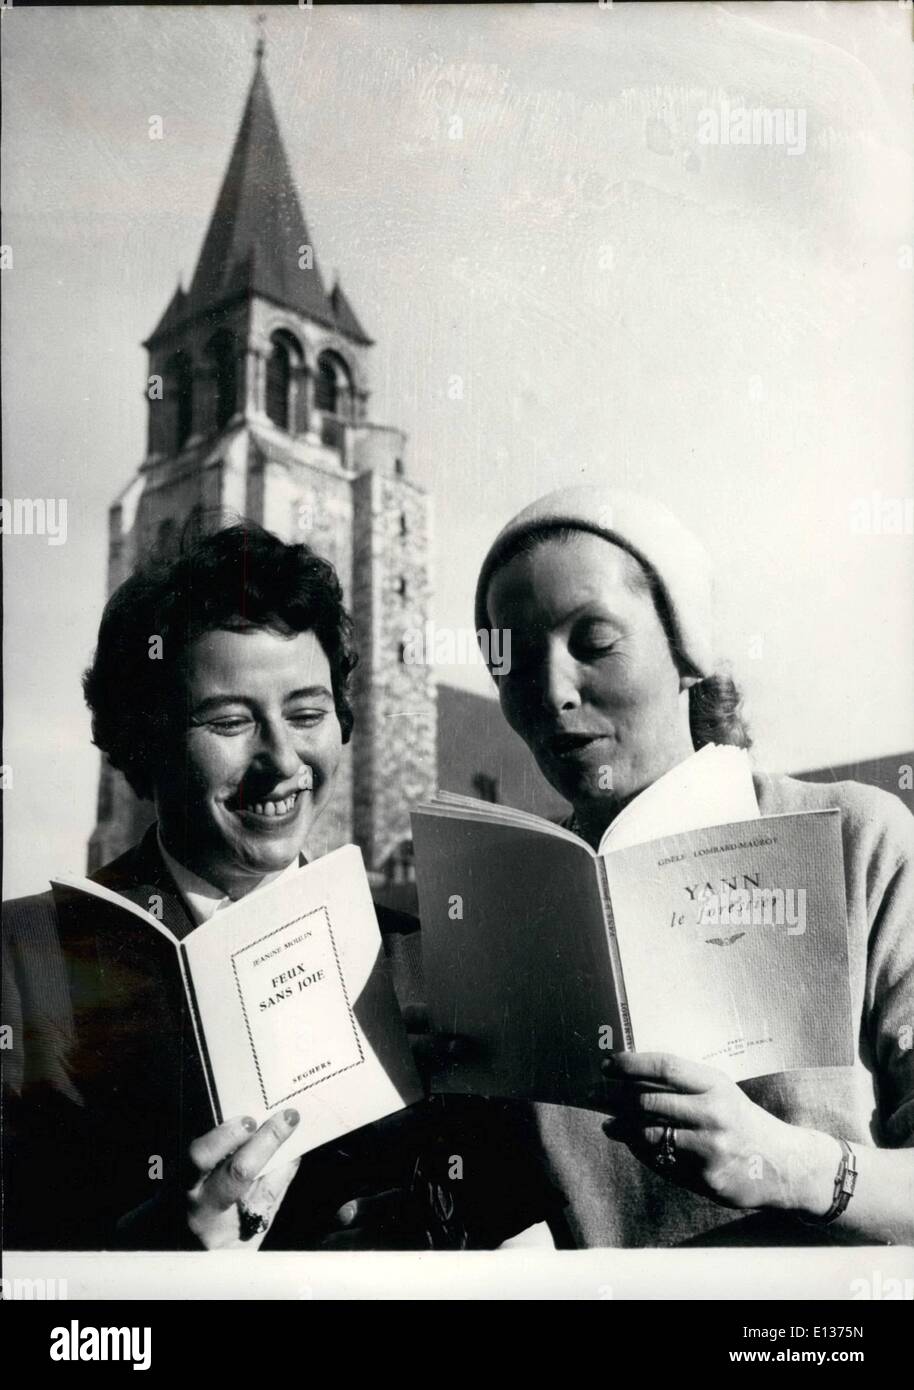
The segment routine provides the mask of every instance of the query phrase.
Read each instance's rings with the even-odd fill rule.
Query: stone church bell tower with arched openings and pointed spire
[[[247,517],[329,559],[353,614],[356,728],[311,853],[354,840],[376,880],[408,863],[408,808],[436,785],[436,703],[403,634],[431,616],[429,499],[406,435],[369,418],[372,339],[328,291],[264,72],[263,39],[189,288],[146,339],[147,450],[110,509],[108,594],[194,513]],[[90,872],[153,819],[101,769]]]

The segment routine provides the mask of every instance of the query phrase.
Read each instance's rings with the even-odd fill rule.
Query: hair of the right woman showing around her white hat
[[[533,550],[543,541],[568,541],[579,531],[590,531],[593,535],[608,541],[599,527],[570,525],[561,521],[543,521],[540,525],[522,531],[513,542],[508,542],[499,553],[499,569],[514,559]],[[617,543],[617,542],[613,542]],[[621,546],[624,549],[624,546]],[[631,560],[626,581],[632,589],[650,595],[657,610],[657,617],[667,634],[670,652],[681,676],[696,676],[699,680],[689,687],[689,731],[696,749],[706,744],[732,744],[736,748],[750,748],[751,737],[743,717],[743,695],[733,677],[725,671],[713,671],[701,676],[682,651],[682,642],[676,624],[672,620],[670,600],[663,581],[657,573],[645,562],[628,552]]]

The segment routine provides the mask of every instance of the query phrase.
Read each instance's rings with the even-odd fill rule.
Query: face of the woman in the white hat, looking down
[[[628,552],[586,531],[496,570],[492,626],[511,631],[504,716],[595,831],[692,748],[688,696]],[[599,834],[597,834],[599,838]]]

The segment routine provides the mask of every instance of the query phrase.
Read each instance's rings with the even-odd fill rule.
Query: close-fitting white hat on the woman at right
[[[488,631],[489,584],[507,548],[539,527],[576,527],[603,535],[654,571],[663,585],[679,646],[699,676],[713,670],[711,559],[674,514],[649,498],[614,488],[560,488],[532,502],[497,534],[476,584],[476,631]]]

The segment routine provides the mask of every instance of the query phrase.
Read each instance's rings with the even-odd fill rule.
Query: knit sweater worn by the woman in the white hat
[[[810,784],[757,774],[763,816],[842,813],[853,1066],[761,1076],[743,1090],[792,1125],[857,1144],[914,1145],[914,817],[899,798],[858,783]],[[789,986],[788,986],[789,987]],[[603,1115],[532,1106],[547,1172],[564,1193],[574,1245],[806,1243],[776,1212],[751,1219],[697,1197],[608,1140]]]

